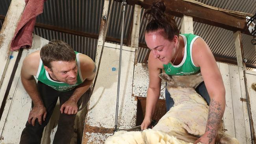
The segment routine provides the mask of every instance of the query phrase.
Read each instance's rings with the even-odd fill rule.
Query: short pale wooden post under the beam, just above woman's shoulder
[[[184,15],[181,20],[181,33],[194,33],[193,17]]]

